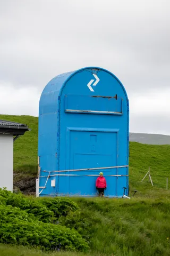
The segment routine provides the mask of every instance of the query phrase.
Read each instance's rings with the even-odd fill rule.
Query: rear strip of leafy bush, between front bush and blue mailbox
[[[78,205],[69,198],[33,199],[0,189],[0,202],[1,198],[3,198],[2,203],[5,202],[6,205],[20,207],[21,210],[33,214],[37,220],[74,228],[88,243],[90,241],[92,227],[90,217],[84,216]]]

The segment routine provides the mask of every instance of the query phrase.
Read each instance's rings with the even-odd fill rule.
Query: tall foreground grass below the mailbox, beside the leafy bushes
[[[79,204],[91,223],[91,249],[87,255],[170,255],[170,196],[166,201],[142,198],[75,198],[74,201]],[[1,248],[5,248],[5,252],[2,253]],[[0,246],[2,256],[15,256],[17,251],[21,253],[18,255],[49,255],[21,247],[11,249],[4,245]],[[56,255],[86,254],[57,252]]]

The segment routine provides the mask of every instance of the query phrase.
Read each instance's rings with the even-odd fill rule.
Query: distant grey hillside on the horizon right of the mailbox
[[[149,145],[170,145],[170,136],[162,134],[131,133],[129,140]]]

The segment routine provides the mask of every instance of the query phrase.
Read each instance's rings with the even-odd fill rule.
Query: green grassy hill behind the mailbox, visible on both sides
[[[26,132],[23,137],[20,137],[14,142],[14,172],[36,175],[38,159],[38,117],[0,115],[0,119],[24,123],[30,127],[30,132]],[[148,184],[148,178],[141,183],[149,166],[154,186],[157,188],[166,188],[167,177],[170,182],[169,155],[170,145],[143,145],[137,142],[130,142],[130,188],[139,189],[143,192],[147,188],[151,188],[151,185]],[[138,194],[140,194],[140,191]]]

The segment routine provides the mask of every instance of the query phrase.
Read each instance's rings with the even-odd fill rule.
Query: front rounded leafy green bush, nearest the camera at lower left
[[[45,250],[86,251],[88,244],[74,229],[36,220],[33,214],[0,205],[0,242],[38,246]]]

